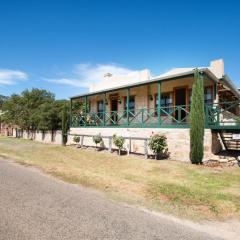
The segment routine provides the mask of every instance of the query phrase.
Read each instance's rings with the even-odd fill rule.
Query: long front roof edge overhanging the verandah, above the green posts
[[[201,69],[199,69],[199,72],[202,73],[202,74],[205,74],[206,76],[208,76],[213,81],[215,81],[217,83],[219,82],[219,79],[208,68],[201,68]],[[151,80],[142,81],[140,83],[128,84],[128,85],[123,85],[123,86],[120,86],[120,87],[109,88],[109,89],[104,89],[104,90],[101,90],[101,91],[89,92],[89,93],[85,93],[85,94],[81,94],[81,95],[76,95],[76,96],[70,97],[70,99],[78,99],[78,98],[83,98],[83,97],[86,97],[86,96],[104,94],[104,93],[108,93],[108,92],[114,92],[114,91],[118,91],[118,90],[122,90],[122,89],[144,86],[144,85],[157,83],[157,82],[166,82],[166,81],[178,80],[178,79],[182,79],[182,78],[186,78],[186,77],[192,77],[194,75],[194,73],[195,73],[195,69],[191,70],[191,71],[188,71],[188,72],[171,75],[171,76],[163,76],[163,77],[153,78]]]

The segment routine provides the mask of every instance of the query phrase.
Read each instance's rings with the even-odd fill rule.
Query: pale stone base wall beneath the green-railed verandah
[[[164,134],[167,137],[170,158],[179,161],[189,161],[190,153],[190,137],[189,129],[178,128],[71,128],[70,134],[84,134],[112,136],[113,134],[123,137],[142,137],[149,138],[153,133]],[[208,159],[212,155],[212,133],[211,130],[205,129],[204,137],[204,159]],[[108,148],[109,140],[103,139],[104,146]],[[68,139],[68,144],[73,144],[73,136]],[[92,137],[84,137],[83,144],[85,146],[95,146]],[[126,141],[129,144],[129,140]],[[114,147],[114,146],[113,146]],[[131,140],[131,152],[144,154],[144,141]],[[149,150],[150,152],[150,150]]]

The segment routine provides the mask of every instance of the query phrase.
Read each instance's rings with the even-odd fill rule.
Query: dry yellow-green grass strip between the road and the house
[[[0,138],[0,156],[35,166],[64,181],[103,191],[112,199],[193,220],[240,219],[240,169],[117,156]]]

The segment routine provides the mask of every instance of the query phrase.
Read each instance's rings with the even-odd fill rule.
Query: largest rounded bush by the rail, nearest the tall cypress
[[[160,134],[154,134],[151,136],[148,146],[154,152],[155,158],[159,158],[163,155],[164,150],[167,149],[166,137]]]

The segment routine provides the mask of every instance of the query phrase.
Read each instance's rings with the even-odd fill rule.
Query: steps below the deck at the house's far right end
[[[226,150],[240,151],[240,139],[234,139],[234,135],[239,134],[240,130],[220,130],[219,135]]]

